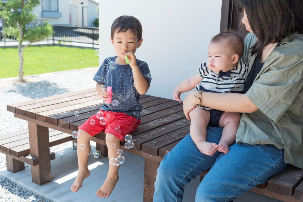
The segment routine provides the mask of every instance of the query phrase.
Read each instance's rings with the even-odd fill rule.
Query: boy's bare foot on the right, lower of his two
[[[113,175],[107,174],[107,177],[103,182],[102,186],[96,192],[96,196],[101,198],[108,198],[108,196],[114,190],[118,180],[119,180],[118,174],[113,174]]]

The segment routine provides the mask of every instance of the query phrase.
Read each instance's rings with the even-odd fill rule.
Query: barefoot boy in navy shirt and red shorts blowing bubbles
[[[95,114],[78,127],[78,145],[83,143],[86,147],[84,150],[79,147],[77,149],[79,171],[72,184],[72,191],[78,191],[83,180],[90,174],[87,164],[91,151],[89,139],[92,136],[104,131],[110,160],[118,156],[117,150],[121,149],[120,141],[123,141],[125,135],[131,134],[141,123],[142,104],[138,100],[140,94],[146,93],[151,82],[148,65],[135,56],[137,48],[143,41],[141,37],[141,23],[133,16],[120,16],[112,24],[110,40],[117,56],[106,58],[93,79],[97,82],[96,89],[103,100],[108,99],[109,94],[106,90],[110,86],[112,100],[118,100],[118,104],[103,104],[100,111],[106,119],[105,124],[100,123]],[[129,60],[128,64],[125,55]],[[112,61],[117,64],[116,68],[112,68],[110,64]],[[93,125],[90,124],[92,119],[95,120]],[[113,143],[116,147],[111,147]],[[119,167],[109,164],[107,177],[96,192],[98,197],[107,198],[112,193],[119,180]]]

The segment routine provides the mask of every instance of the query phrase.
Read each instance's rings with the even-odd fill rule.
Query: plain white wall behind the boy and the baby
[[[100,1],[99,64],[116,55],[109,40],[112,22],[133,15],[143,28],[143,43],[135,55],[147,62],[152,74],[147,94],[172,99],[175,86],[206,61],[209,41],[220,31],[221,4],[222,0]]]

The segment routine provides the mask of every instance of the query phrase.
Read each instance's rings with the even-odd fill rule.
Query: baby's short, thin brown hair
[[[239,58],[242,57],[244,50],[244,43],[241,37],[233,31],[223,31],[220,34],[215,35],[211,39],[211,43],[225,42],[230,48],[232,54],[237,54]]]

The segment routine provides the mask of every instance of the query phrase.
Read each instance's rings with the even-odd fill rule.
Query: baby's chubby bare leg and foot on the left
[[[212,156],[217,151],[217,144],[206,142],[206,126],[208,125],[210,114],[209,111],[196,107],[190,112],[191,139],[197,145],[202,154]]]

